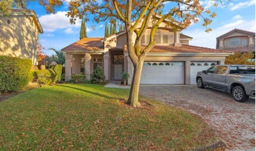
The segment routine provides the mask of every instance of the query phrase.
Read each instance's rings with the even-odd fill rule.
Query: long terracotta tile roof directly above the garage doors
[[[141,46],[141,50],[143,50],[145,48],[146,48],[146,46]],[[124,49],[124,52],[127,52],[127,49]],[[182,44],[181,47],[155,46],[150,51],[150,53],[232,53],[232,52],[225,51],[225,50],[219,50],[219,49],[211,49],[211,48]]]

